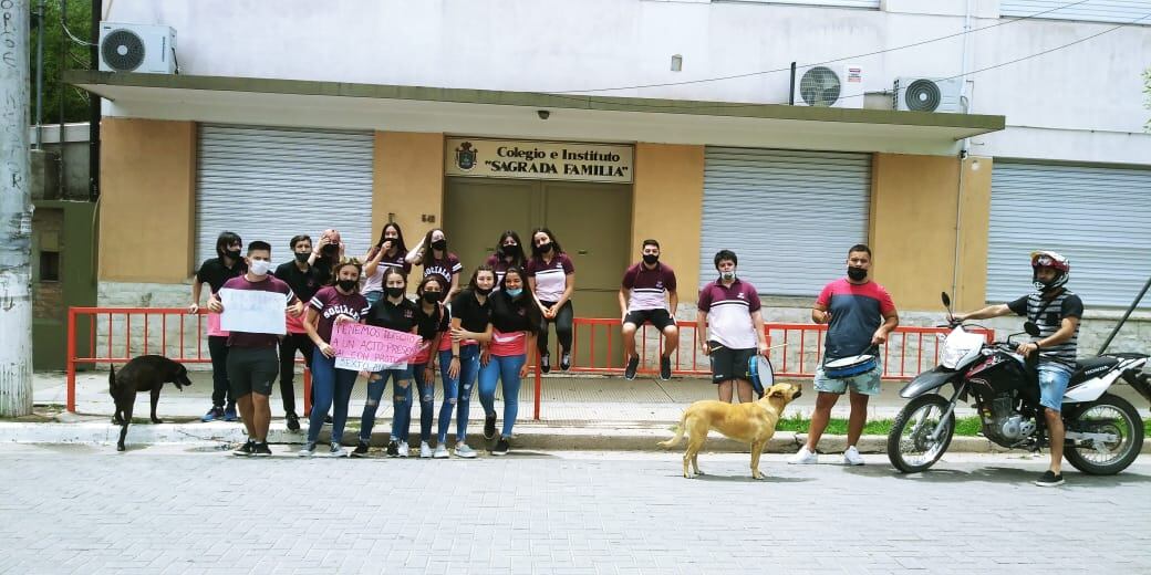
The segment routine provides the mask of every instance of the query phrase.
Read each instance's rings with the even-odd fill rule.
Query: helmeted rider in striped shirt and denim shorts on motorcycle
[[[1072,267],[1067,258],[1055,252],[1042,250],[1031,252],[1031,282],[1036,292],[1023,296],[1009,304],[988,306],[969,314],[958,314],[956,322],[985,320],[1014,313],[1027,316],[1039,328],[1037,339],[1026,342],[1015,350],[1020,355],[1038,353],[1039,404],[1051,437],[1051,467],[1035,481],[1036,485],[1050,488],[1062,485],[1060,466],[1064,460],[1066,430],[1060,416],[1064,392],[1075,370],[1076,342],[1080,320],[1083,317],[1083,301],[1065,284]]]

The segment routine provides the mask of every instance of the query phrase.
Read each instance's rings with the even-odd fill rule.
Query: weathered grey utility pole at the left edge
[[[0,416],[32,413],[30,0],[0,0]]]

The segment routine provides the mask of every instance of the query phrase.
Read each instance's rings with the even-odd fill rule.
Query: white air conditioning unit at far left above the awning
[[[100,22],[100,71],[176,72],[176,31],[162,25]]]

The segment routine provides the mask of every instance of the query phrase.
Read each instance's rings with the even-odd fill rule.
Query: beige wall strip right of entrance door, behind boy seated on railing
[[[630,261],[640,243],[660,241],[661,261],[676,270],[680,301],[695,301],[703,213],[703,146],[635,145]]]

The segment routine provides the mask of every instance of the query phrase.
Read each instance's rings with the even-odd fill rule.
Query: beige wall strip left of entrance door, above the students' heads
[[[443,135],[375,132],[372,185],[373,241],[389,214],[395,214],[409,247],[429,228],[442,228]]]

